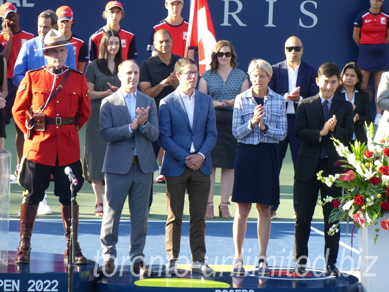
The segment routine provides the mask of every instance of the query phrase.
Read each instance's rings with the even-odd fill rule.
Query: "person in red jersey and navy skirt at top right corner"
[[[382,73],[389,70],[389,17],[381,11],[383,0],[370,0],[370,9],[358,14],[354,21],[353,38],[359,46],[357,64],[363,74],[363,88],[366,89],[370,73],[374,74],[375,109],[374,125],[378,125],[382,110],[377,106],[377,89]]]

